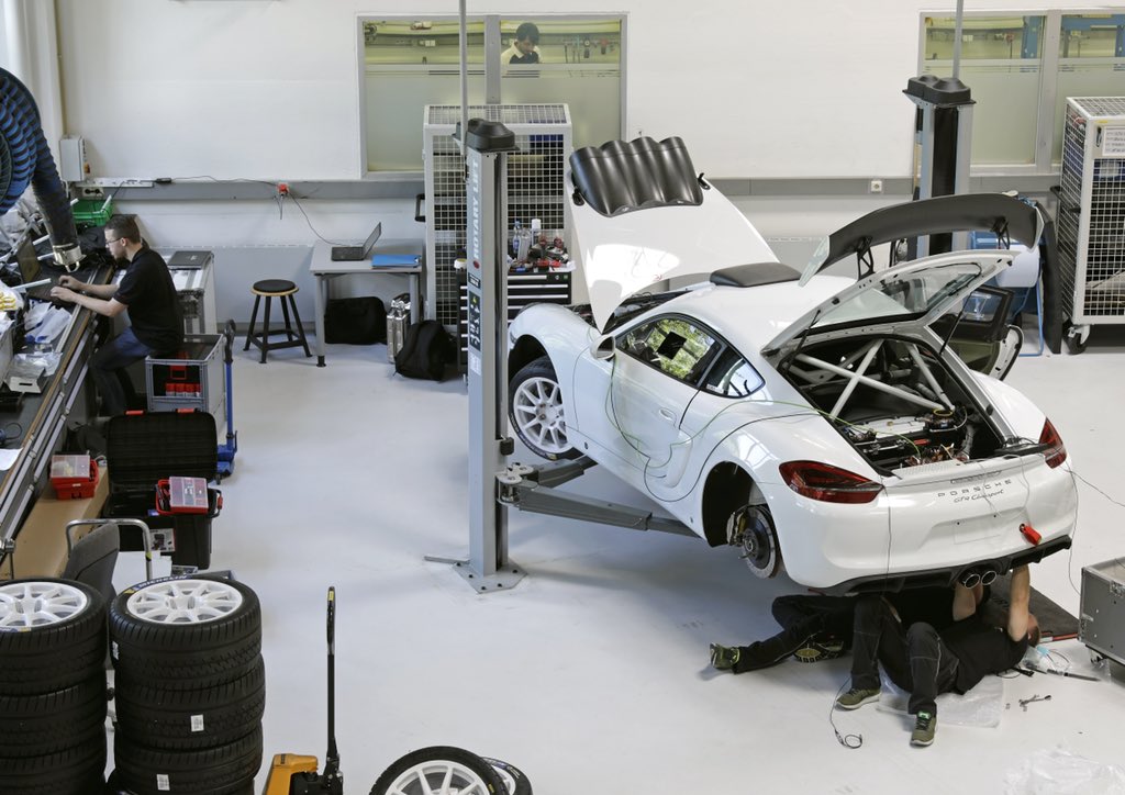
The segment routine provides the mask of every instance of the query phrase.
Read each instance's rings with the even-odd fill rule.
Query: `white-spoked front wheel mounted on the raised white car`
[[[507,387],[507,416],[528,449],[548,461],[578,458],[562,413],[562,389],[548,356],[524,364]]]

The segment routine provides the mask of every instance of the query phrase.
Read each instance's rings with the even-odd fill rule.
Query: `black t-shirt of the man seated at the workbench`
[[[158,354],[183,344],[183,311],[164,259],[145,246],[136,253],[114,298],[129,311],[137,340]]]

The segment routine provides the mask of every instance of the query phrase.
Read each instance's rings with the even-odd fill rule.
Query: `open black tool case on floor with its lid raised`
[[[215,480],[215,418],[199,410],[128,412],[110,418],[106,436],[106,516],[143,521],[154,530],[154,550],[166,553],[171,548],[173,566],[208,568],[212,520],[222,507],[222,494],[208,487],[206,514],[161,515],[156,511],[156,486],[173,476]],[[171,537],[161,532],[168,530]],[[142,549],[138,529],[122,527],[122,549]]]

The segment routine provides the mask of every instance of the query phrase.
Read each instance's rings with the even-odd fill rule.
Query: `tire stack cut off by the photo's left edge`
[[[0,582],[0,793],[90,795],[105,770],[105,599],[71,580]]]

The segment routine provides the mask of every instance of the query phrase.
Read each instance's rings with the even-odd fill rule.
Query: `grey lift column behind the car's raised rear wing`
[[[917,198],[968,193],[975,105],[969,87],[957,78],[924,74],[907,81],[903,93],[918,106],[915,136],[921,162]],[[950,234],[920,237],[918,258],[968,247],[965,241],[956,246],[953,242]]]

